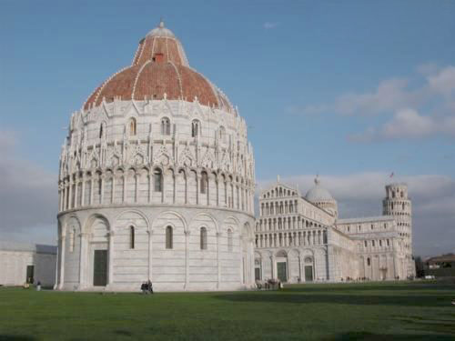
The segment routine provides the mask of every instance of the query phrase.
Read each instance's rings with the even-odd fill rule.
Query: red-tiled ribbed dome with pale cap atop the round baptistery
[[[110,76],[88,97],[87,110],[106,101],[119,100],[197,101],[234,113],[227,96],[204,75],[190,68],[176,36],[161,21],[139,42],[133,64]]]

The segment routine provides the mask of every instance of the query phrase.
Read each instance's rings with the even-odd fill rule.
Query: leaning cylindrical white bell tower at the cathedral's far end
[[[386,186],[386,197],[382,201],[383,214],[394,216],[403,237],[403,251],[406,255],[408,276],[415,276],[415,266],[412,260],[412,206],[406,184],[390,184]]]

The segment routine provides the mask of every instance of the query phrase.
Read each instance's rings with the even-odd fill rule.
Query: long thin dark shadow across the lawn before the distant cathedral
[[[318,295],[283,292],[234,293],[215,296],[231,302],[289,303],[289,304],[339,304],[358,306],[450,306],[449,296],[370,296],[370,295]]]

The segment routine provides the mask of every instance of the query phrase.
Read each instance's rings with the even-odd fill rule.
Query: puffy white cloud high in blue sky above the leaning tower
[[[333,103],[288,107],[293,114],[391,115],[389,121],[349,135],[353,142],[455,136],[455,66],[433,63],[417,68],[419,82],[391,78],[375,91],[339,95]],[[422,114],[425,113],[425,114]]]

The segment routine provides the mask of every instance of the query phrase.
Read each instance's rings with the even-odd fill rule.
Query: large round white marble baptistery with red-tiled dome
[[[71,116],[57,287],[252,286],[254,190],[245,120],[161,22]]]

